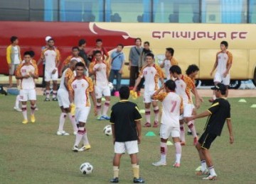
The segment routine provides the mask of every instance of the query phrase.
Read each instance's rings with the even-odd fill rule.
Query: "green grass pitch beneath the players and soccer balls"
[[[86,127],[92,149],[74,153],[71,149],[75,136],[55,134],[60,115],[58,103],[43,102],[43,98],[38,96],[36,123],[23,125],[22,114],[13,110],[15,96],[0,96],[0,183],[109,183],[113,144],[112,137],[102,132],[109,122],[97,121],[91,113]],[[112,98],[112,104],[117,100]],[[255,183],[256,180],[256,109],[250,108],[256,104],[256,98],[245,98],[247,103],[238,103],[238,100],[229,99],[235,143],[229,144],[225,126],[222,136],[210,149],[218,174],[217,183]],[[142,98],[138,98],[137,104],[144,109]],[[198,113],[209,105],[208,102],[203,103]],[[205,122],[206,118],[196,122],[198,132],[203,132]],[[65,130],[73,132],[68,119]],[[148,131],[153,131],[156,137],[146,137]],[[207,183],[194,175],[200,161],[191,136],[186,136],[187,145],[182,148],[181,168],[171,167],[174,146],[168,146],[168,166],[155,167],[151,163],[160,158],[159,128],[143,128],[142,132],[139,159],[141,176],[146,183]],[[88,176],[79,170],[85,161],[94,166],[93,173]],[[127,154],[122,157],[119,183],[132,183],[132,168]]]

